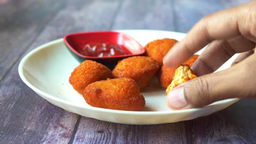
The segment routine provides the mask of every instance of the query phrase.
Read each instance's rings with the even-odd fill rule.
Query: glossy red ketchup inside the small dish
[[[111,57],[128,55],[120,46],[109,43],[90,43],[86,44],[80,51],[80,54],[90,57]]]

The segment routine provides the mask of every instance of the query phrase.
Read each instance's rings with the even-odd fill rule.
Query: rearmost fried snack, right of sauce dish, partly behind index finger
[[[177,43],[177,40],[168,38],[151,41],[145,46],[146,55],[162,66],[162,58],[164,58],[175,43]]]

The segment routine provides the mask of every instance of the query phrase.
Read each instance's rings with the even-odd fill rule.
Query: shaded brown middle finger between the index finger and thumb
[[[201,53],[191,69],[199,76],[213,73],[235,53],[252,50],[254,47],[255,43],[243,36],[228,40],[215,40]]]

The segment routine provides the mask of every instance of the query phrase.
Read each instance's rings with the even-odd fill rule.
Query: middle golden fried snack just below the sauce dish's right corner
[[[154,59],[145,56],[135,56],[119,61],[112,73],[115,78],[129,77],[135,80],[140,88],[144,88],[152,81],[158,69],[158,62]]]

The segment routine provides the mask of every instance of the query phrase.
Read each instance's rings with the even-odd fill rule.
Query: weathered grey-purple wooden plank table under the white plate
[[[64,34],[110,29],[188,32],[229,1],[0,0],[0,143],[256,143],[256,100],[160,125],[98,121],[50,104],[18,75],[21,58]]]

